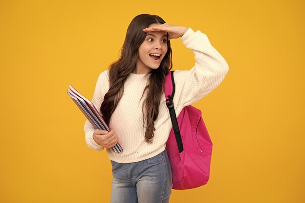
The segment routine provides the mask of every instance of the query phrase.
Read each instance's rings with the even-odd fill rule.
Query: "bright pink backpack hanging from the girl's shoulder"
[[[210,178],[212,142],[201,111],[190,105],[176,117],[172,103],[175,93],[173,71],[166,76],[164,93],[172,120],[172,130],[166,142],[172,167],[172,189],[205,185]]]

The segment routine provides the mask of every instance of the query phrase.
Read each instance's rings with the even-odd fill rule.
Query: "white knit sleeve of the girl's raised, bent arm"
[[[229,65],[210,44],[208,37],[191,28],[181,37],[182,42],[195,54],[195,65],[189,71],[175,71],[174,80],[178,106],[191,105],[213,91],[225,78]],[[179,95],[180,94],[180,95]]]

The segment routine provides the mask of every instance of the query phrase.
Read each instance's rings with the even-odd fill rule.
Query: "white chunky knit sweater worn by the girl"
[[[195,54],[195,66],[189,71],[175,71],[175,95],[173,104],[178,116],[183,107],[193,104],[214,90],[229,71],[226,60],[212,47],[208,37],[191,28],[181,37],[182,42]],[[119,101],[110,120],[110,128],[114,129],[118,142],[123,148],[121,154],[112,148],[107,149],[110,160],[118,163],[138,162],[151,158],[165,149],[165,143],[172,129],[170,113],[162,96],[159,115],[154,122],[152,144],[145,142],[143,128],[142,92],[146,86],[147,74],[130,74],[124,85],[124,94]],[[104,95],[109,90],[108,70],[102,72],[97,79],[92,103],[99,111]],[[146,113],[144,111],[144,113]],[[145,114],[144,114],[145,115]],[[84,125],[86,143],[89,148],[101,151],[104,148],[93,139],[95,131],[87,120]]]

